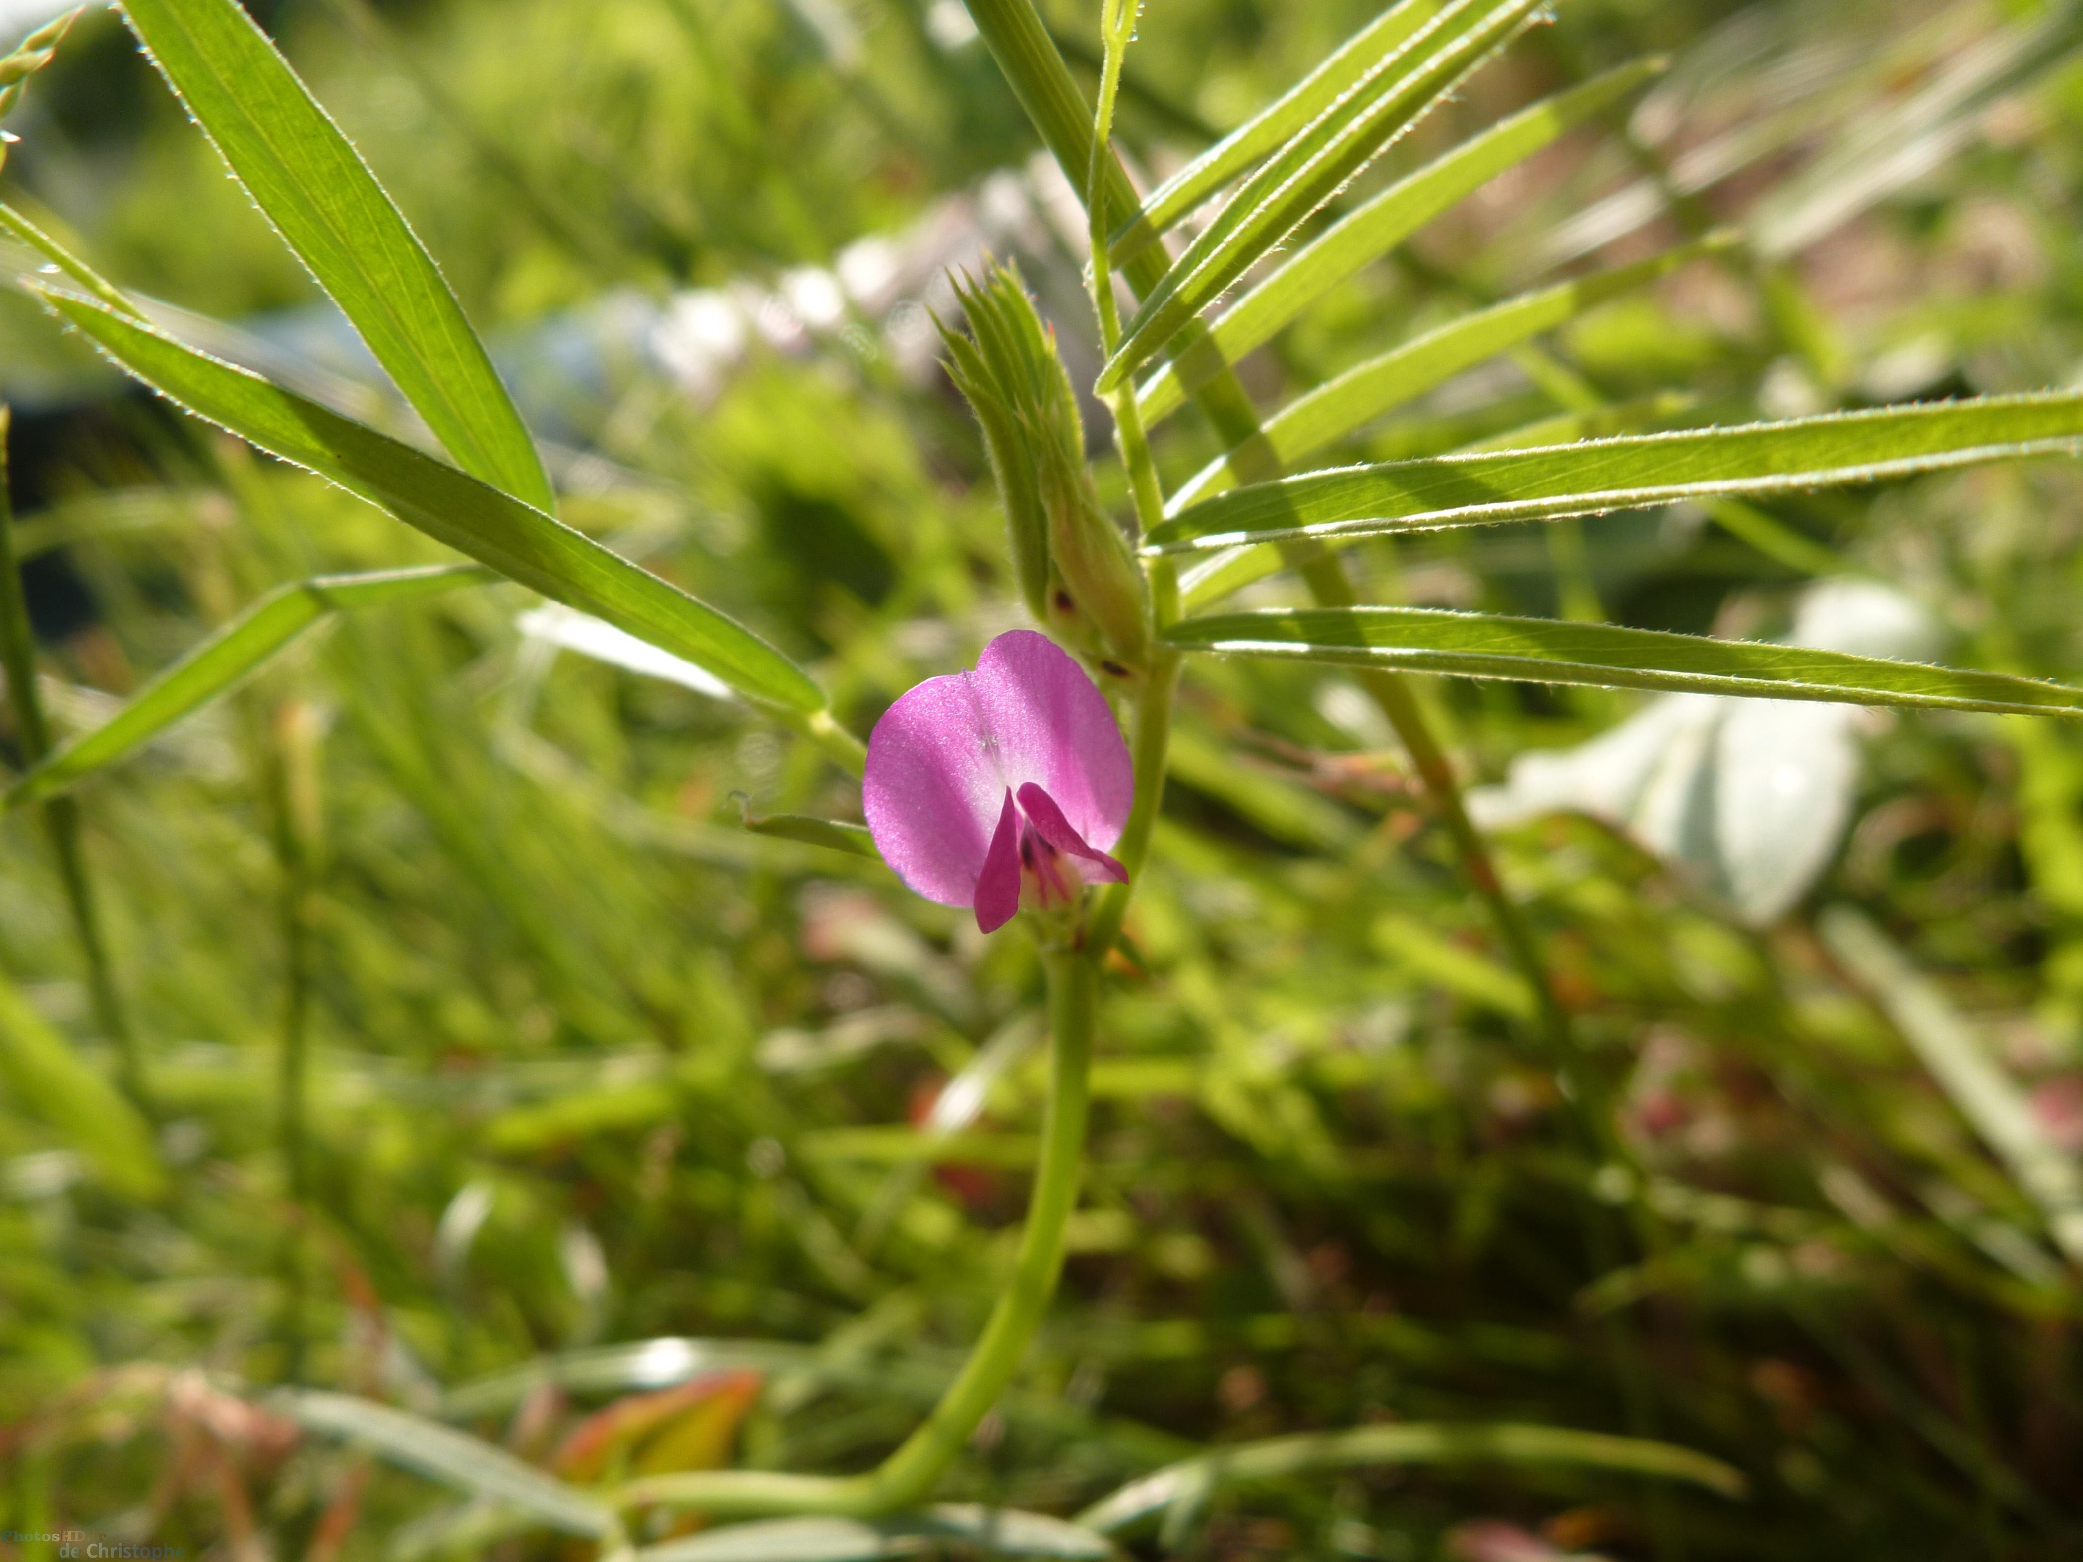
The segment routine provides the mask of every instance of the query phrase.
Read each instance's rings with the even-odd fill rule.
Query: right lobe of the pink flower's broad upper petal
[[[1014,629],[983,648],[969,681],[996,741],[1002,785],[1039,785],[1081,841],[1112,848],[1135,802],[1135,766],[1085,669],[1048,635]]]

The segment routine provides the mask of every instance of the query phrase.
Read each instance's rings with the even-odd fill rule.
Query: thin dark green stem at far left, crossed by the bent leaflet
[[[8,408],[0,406],[0,666],[6,673],[8,704],[21,737],[23,769],[50,754],[50,723],[44,721],[44,698],[35,687],[35,633],[29,627],[29,602],[21,587],[21,566],[15,560],[15,506],[8,500]],[[44,831],[50,835],[58,879],[73,912],[73,929],[87,960],[87,989],[94,1014],[117,1045],[117,1083],[123,1093],[150,1116],[144,1066],[137,1056],[137,1035],[117,991],[115,964],[102,937],[100,906],[94,879],[87,875],[85,848],[79,831],[79,804],[54,798],[44,804]]]

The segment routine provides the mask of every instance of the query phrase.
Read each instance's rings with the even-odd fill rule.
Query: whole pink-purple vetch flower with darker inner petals
[[[1106,854],[1135,798],[1129,746],[1085,671],[1033,629],[889,706],[860,793],[898,877],[975,906],[985,933],[1023,902],[1066,906],[1085,883],[1129,877]]]

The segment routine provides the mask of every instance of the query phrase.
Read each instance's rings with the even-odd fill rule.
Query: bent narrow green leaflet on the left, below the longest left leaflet
[[[321,575],[283,585],[146,683],[106,723],[17,777],[6,791],[0,791],[0,812],[44,802],[135,754],[181,716],[235,689],[304,631],[335,612],[433,596],[487,579],[494,577],[477,564],[433,564],[373,575]]]

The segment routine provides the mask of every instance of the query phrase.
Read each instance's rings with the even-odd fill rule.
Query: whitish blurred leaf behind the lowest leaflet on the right
[[[1787,641],[1927,660],[1939,627],[1875,581],[1818,581]],[[1485,829],[1554,812],[1602,818],[1737,916],[1764,925],[1816,881],[1852,816],[1860,706],[1666,694],[1568,750],[1521,754],[1502,787],[1469,796]]]

